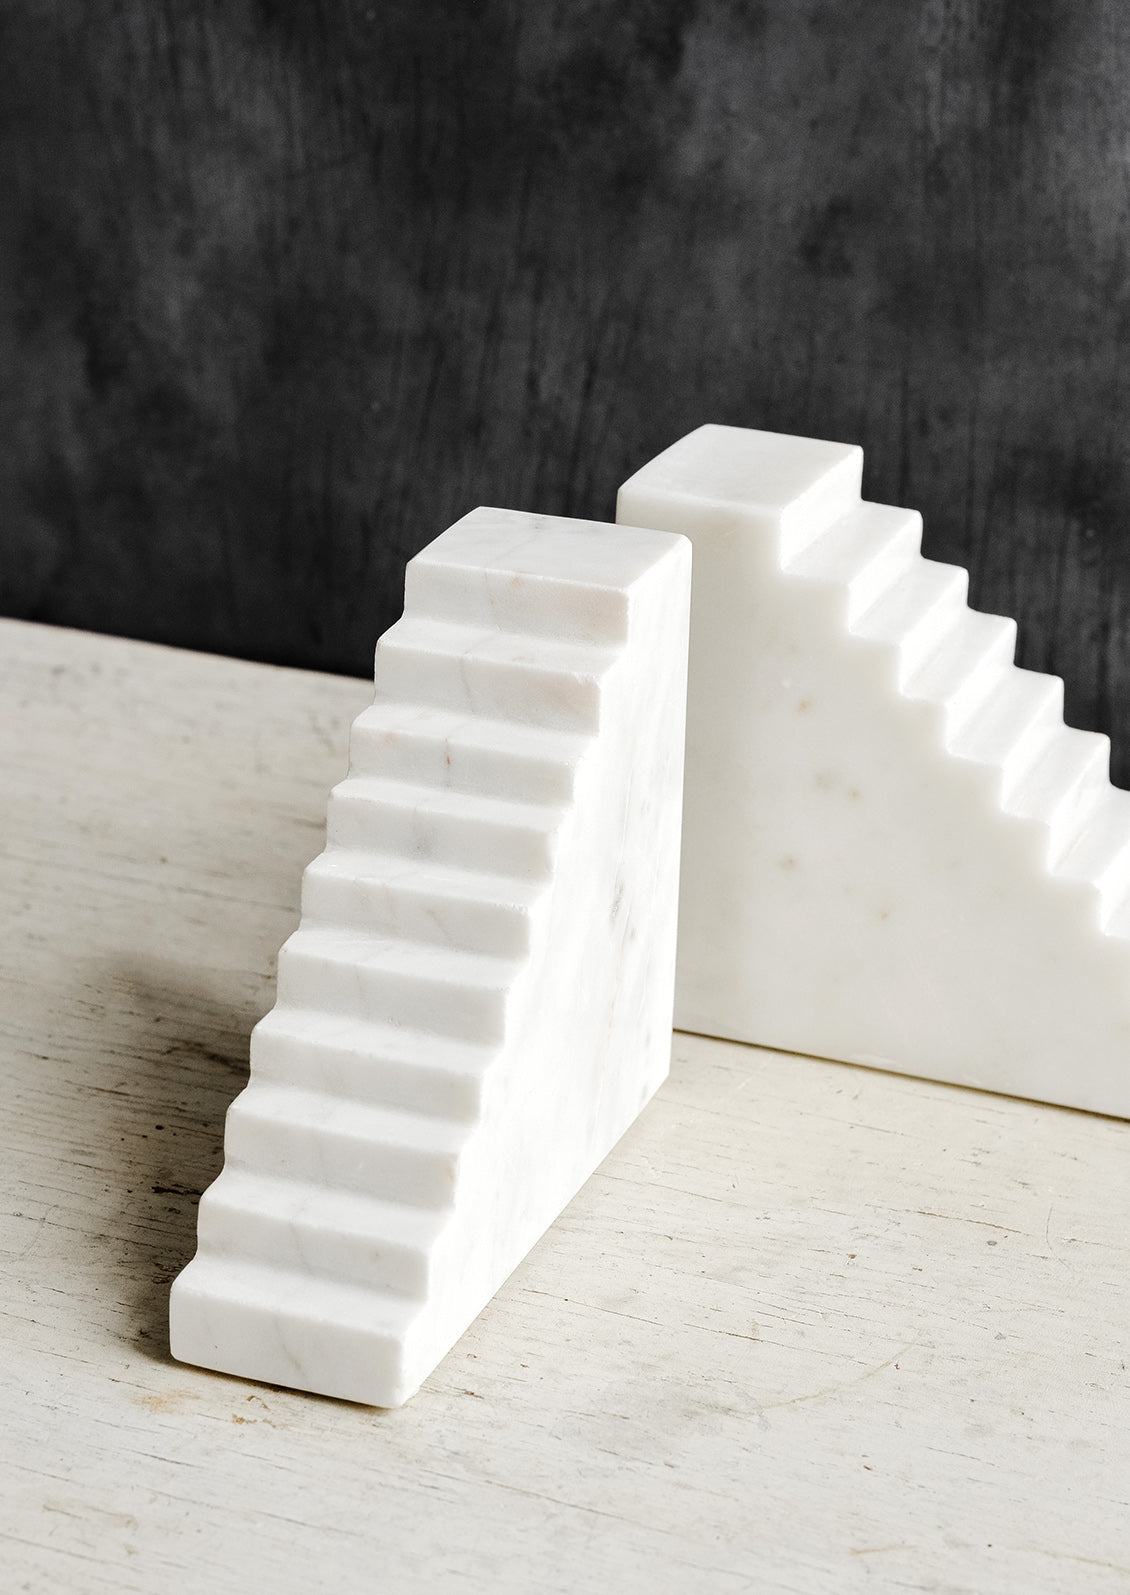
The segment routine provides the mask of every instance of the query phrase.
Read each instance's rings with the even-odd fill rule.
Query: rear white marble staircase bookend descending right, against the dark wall
[[[619,515],[694,544],[675,1022],[1130,1116],[1130,794],[859,448],[705,426]]]

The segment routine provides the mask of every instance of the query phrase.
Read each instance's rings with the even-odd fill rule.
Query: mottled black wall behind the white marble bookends
[[[3,0],[0,608],[367,673],[479,502],[860,442],[1130,778],[1125,0]]]

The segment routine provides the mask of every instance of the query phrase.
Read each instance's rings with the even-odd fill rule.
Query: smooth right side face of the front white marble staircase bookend
[[[603,681],[555,890],[514,990],[512,1040],[485,1083],[492,1134],[463,1164],[466,1214],[479,1222],[452,1225],[437,1254],[437,1289],[455,1297],[450,1322],[464,1313],[458,1292],[487,1300],[488,1282],[509,1273],[667,1075],[688,597],[680,539],[632,584],[630,643]],[[516,1148],[527,1148],[520,1161]],[[500,1180],[500,1164],[514,1177]],[[425,1349],[421,1362],[434,1356]]]

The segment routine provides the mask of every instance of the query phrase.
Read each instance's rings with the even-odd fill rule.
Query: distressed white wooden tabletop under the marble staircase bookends
[[[405,1408],[171,1362],[370,689],[14,622],[0,651],[0,1589],[1130,1589],[1111,1120],[675,1037]]]

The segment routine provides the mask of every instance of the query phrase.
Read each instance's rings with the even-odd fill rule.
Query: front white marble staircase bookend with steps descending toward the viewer
[[[405,1400],[664,1080],[689,545],[480,509],[410,561],[172,1354]]]

